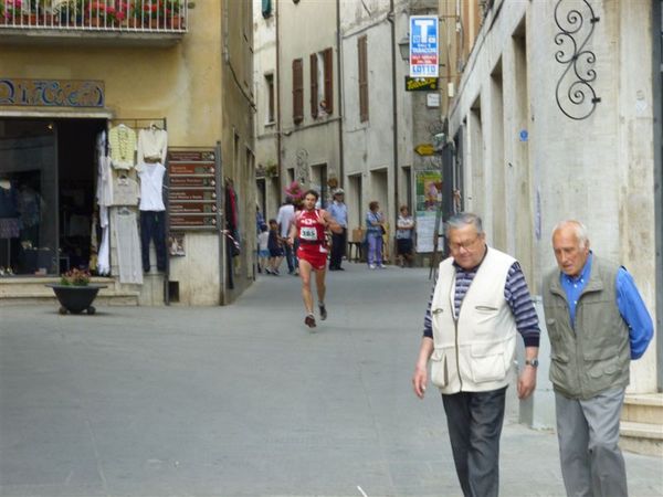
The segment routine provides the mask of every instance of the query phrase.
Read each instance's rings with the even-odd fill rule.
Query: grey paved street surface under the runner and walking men
[[[314,334],[288,275],[229,307],[0,307],[0,495],[461,495],[442,402],[410,388],[428,269],[345,267]],[[501,495],[564,495],[509,390]],[[663,495],[660,458],[625,458],[631,496]]]

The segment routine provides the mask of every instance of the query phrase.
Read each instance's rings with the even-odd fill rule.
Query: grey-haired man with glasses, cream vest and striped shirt
[[[486,245],[478,215],[453,215],[446,239],[451,257],[440,263],[412,385],[422,399],[431,359],[463,494],[497,496],[499,437],[517,334],[526,356],[517,392],[527,399],[536,387],[538,318],[519,263]]]

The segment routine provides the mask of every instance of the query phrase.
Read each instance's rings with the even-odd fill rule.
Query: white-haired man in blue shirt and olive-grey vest
[[[557,224],[552,250],[558,267],[545,279],[544,310],[564,485],[573,496],[627,496],[619,419],[652,319],[627,269],[590,251],[582,223]]]

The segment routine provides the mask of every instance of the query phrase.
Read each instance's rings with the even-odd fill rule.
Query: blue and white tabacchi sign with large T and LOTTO
[[[410,77],[438,77],[438,18],[410,17]]]

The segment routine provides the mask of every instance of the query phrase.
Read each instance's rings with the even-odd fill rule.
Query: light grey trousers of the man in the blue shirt
[[[627,469],[619,441],[624,389],[589,400],[555,392],[561,476],[568,496],[625,497]]]

